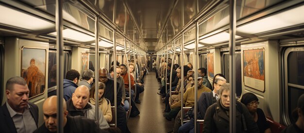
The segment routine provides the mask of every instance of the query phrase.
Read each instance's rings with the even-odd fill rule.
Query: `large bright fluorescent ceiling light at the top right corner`
[[[304,23],[304,5],[272,15],[236,28],[242,33],[263,33]]]

